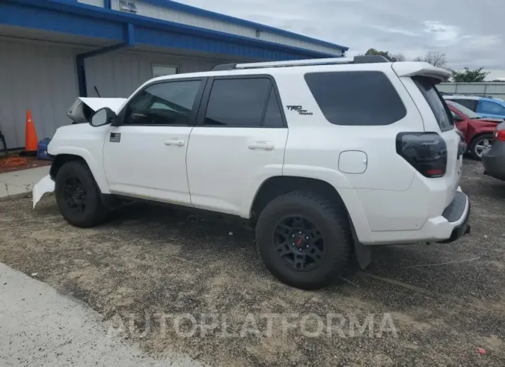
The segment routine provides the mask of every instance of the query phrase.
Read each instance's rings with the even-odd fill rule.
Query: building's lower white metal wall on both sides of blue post
[[[0,38],[0,130],[8,147],[24,147],[26,109],[39,140],[68,125],[68,107],[77,98],[75,55],[89,48]],[[208,71],[230,60],[116,51],[86,59],[88,96],[128,97],[152,78],[152,65],[178,66],[179,73]]]

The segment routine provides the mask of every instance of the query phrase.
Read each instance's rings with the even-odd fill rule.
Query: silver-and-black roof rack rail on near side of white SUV
[[[261,69],[286,66],[314,66],[314,65],[335,65],[335,64],[372,64],[376,62],[389,62],[387,58],[380,55],[362,55],[355,57],[329,57],[323,59],[293,60],[293,61],[273,61],[273,62],[250,62],[247,64],[219,64],[212,68],[212,71],[226,71],[239,69]]]

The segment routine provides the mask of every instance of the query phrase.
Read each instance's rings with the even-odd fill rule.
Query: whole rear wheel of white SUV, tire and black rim
[[[273,199],[256,226],[259,255],[287,285],[318,289],[349,268],[353,248],[345,210],[313,193]]]

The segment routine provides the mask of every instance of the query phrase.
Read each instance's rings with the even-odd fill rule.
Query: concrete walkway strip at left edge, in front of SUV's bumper
[[[0,201],[29,195],[33,184],[49,174],[49,165],[0,174]]]

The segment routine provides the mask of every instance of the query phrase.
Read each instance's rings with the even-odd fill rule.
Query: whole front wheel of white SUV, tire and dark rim
[[[74,226],[95,226],[107,215],[93,174],[82,161],[70,161],[59,168],[55,196],[59,212]]]

